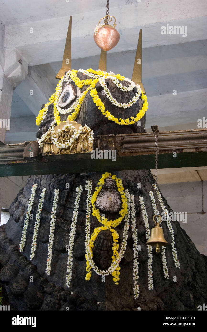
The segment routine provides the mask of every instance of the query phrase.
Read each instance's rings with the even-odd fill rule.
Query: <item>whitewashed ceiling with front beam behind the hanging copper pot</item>
[[[43,3],[9,0],[0,13],[5,22],[5,47],[17,48],[29,65],[62,58],[65,37],[72,15],[72,58],[100,53],[93,41],[94,27],[105,16],[106,1],[50,1]],[[13,4],[13,5],[12,5]],[[83,7],[82,7],[83,6]],[[20,9],[21,8],[21,9]],[[31,15],[32,13],[32,15]],[[110,1],[109,13],[117,19],[118,45],[109,52],[136,49],[139,29],[143,48],[206,39],[207,2],[201,0]],[[161,26],[186,26],[187,36],[162,35]],[[33,28],[33,33],[30,33]]]

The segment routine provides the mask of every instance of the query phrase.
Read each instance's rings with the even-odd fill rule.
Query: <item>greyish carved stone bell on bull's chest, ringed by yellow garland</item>
[[[109,176],[105,180],[96,199],[96,207],[104,212],[115,213],[121,208],[121,195],[117,190],[116,181]]]

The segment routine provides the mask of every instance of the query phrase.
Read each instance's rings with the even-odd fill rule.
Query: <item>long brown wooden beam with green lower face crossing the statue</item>
[[[207,129],[159,132],[158,145],[158,168],[207,166]],[[91,159],[88,152],[40,155],[38,160],[37,153],[28,158],[28,146],[28,142],[0,146],[1,177],[155,168],[153,133],[95,136],[93,149],[116,150],[116,161]]]

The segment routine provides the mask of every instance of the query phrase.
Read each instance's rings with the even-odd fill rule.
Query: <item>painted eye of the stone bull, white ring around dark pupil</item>
[[[58,106],[62,109],[68,109],[77,97],[80,95],[80,89],[70,79],[65,84],[58,99]]]

